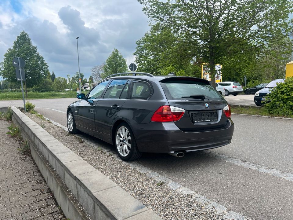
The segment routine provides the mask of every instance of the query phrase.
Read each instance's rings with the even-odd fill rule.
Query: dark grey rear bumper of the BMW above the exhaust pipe
[[[140,152],[171,153],[221,147],[231,143],[234,124],[231,119],[218,130],[184,132],[173,122],[131,124]]]

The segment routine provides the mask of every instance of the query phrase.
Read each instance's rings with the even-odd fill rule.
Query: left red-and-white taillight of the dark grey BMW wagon
[[[155,111],[151,121],[153,122],[172,122],[178,121],[184,115],[185,110],[182,108],[163,105]]]

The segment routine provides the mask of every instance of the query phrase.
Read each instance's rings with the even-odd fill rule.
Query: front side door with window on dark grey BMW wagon
[[[110,80],[103,81],[95,86],[89,94],[86,96],[87,99],[94,101],[92,104],[86,100],[81,100],[77,106],[78,122],[77,125],[85,128],[92,133],[96,130],[95,127],[95,115],[96,115],[96,104],[99,98],[102,96],[104,89],[108,85]]]

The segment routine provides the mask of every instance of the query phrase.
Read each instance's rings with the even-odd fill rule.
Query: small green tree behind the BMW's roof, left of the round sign
[[[114,48],[112,54],[107,58],[105,65],[103,66],[104,73],[102,78],[115,73],[127,72],[127,63],[122,54]]]

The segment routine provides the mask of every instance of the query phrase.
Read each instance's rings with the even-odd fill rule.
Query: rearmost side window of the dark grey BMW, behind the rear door
[[[132,82],[131,99],[147,99],[151,93],[152,90],[149,83],[137,80]]]

